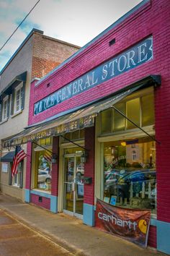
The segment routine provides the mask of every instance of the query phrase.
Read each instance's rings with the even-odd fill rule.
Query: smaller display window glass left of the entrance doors
[[[47,150],[35,152],[35,189],[51,190],[51,167],[50,152]]]

